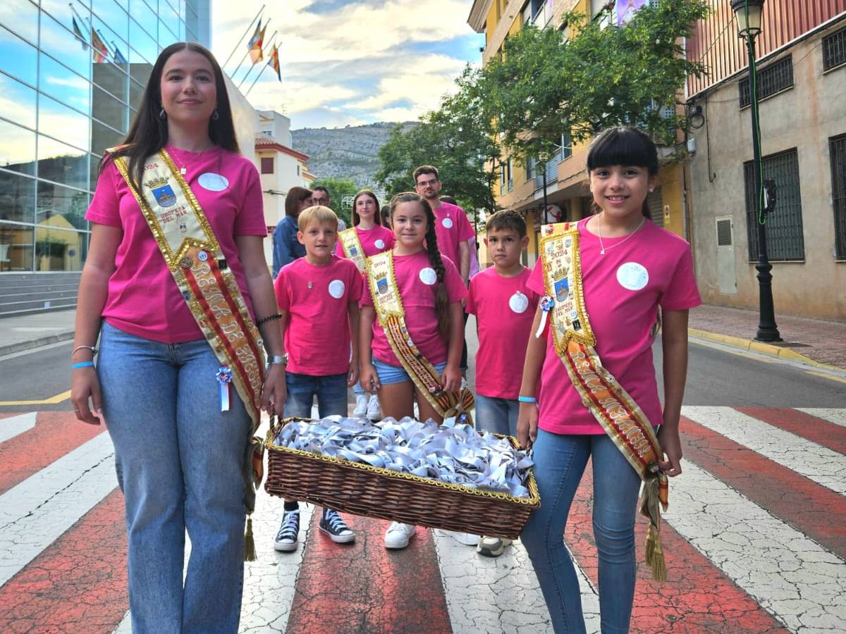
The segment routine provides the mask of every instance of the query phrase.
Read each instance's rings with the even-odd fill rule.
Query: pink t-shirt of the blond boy
[[[273,284],[280,310],[288,311],[288,372],[310,376],[349,369],[350,303],[361,298],[361,275],[352,260],[332,256],[316,266],[305,258],[279,271]]]

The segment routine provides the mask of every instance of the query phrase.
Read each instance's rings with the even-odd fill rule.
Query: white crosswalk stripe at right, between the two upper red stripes
[[[846,456],[731,407],[682,407],[682,415],[757,451],[805,478],[846,495]]]

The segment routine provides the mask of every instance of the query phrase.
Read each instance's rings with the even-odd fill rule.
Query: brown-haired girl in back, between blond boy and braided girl
[[[362,189],[353,199],[353,227],[338,233],[339,258],[349,258],[364,273],[365,258],[393,249],[393,232],[382,227],[379,199],[370,189]],[[360,383],[353,385],[355,409],[353,416],[380,420],[379,396],[367,395]]]

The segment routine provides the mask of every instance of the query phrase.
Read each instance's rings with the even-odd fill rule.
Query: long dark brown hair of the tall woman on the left
[[[159,117],[159,112],[162,111],[162,72],[168,59],[180,51],[200,53],[211,64],[215,90],[217,90],[217,118],[212,116],[209,119],[209,138],[214,145],[219,145],[224,150],[239,152],[235,126],[232,123],[232,107],[229,106],[229,96],[220,64],[205,46],[196,42],[176,42],[159,53],[156,63],[153,64],[150,79],[147,80],[135,121],[132,122],[122,147],[109,155],[110,157],[125,156],[129,159],[129,175],[136,189],[140,189],[141,179],[144,178],[146,158],[156,154],[168,143],[168,120]],[[106,163],[107,156],[103,156],[100,161],[101,171]]]

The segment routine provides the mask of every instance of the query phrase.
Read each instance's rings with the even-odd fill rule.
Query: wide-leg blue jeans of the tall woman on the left
[[[102,325],[97,375],[125,497],[135,634],[238,631],[251,422],[234,389],[220,411],[218,367],[205,339],[168,345]]]

